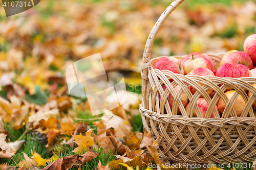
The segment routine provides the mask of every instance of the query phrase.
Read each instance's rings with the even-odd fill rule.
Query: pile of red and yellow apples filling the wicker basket
[[[216,76],[216,77],[230,77],[230,78],[241,78],[241,77],[256,77],[256,34],[250,35],[244,41],[244,52],[231,50],[228,51],[221,60],[221,66],[214,70],[214,63],[211,58],[206,54],[200,53],[190,53],[182,61],[174,57],[163,57],[156,62],[154,68],[159,70],[170,70],[176,74],[181,75],[196,75],[196,76]],[[173,82],[173,80],[169,80]],[[199,83],[200,84],[200,83]],[[203,86],[203,84],[200,84]],[[221,86],[221,85],[219,85]],[[256,84],[252,85],[256,88]],[[163,90],[166,90],[166,86],[163,85]],[[180,86],[177,85],[175,91],[178,92],[180,90]],[[196,93],[196,89],[193,86],[188,87],[192,94]],[[247,94],[250,98],[252,93],[248,90]],[[215,95],[215,91],[213,89],[208,89],[206,91],[211,99]],[[228,87],[225,91],[227,98],[230,100],[235,90],[231,87]],[[201,96],[202,97],[202,96]],[[168,103],[170,109],[173,110],[174,98],[172,94],[169,94]],[[161,96],[160,96],[161,101]],[[185,110],[188,110],[189,101],[185,93],[181,96],[182,105],[185,107]],[[205,117],[205,113],[208,109],[208,104],[204,98],[199,98],[197,101],[202,117]],[[239,95],[236,100],[233,108],[236,111],[237,116],[240,116],[246,103],[244,102],[241,95]],[[218,113],[222,114],[226,107],[224,101],[220,99],[215,106]],[[254,101],[252,107],[256,109],[256,100]],[[178,108],[178,114],[180,113],[180,109]],[[230,116],[230,115],[229,115]],[[197,117],[196,113],[193,113],[193,117]],[[214,114],[211,114],[211,117],[215,117]]]

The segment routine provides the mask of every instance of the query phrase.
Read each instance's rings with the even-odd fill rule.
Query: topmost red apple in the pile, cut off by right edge
[[[256,65],[256,34],[252,34],[245,39],[244,52],[250,56],[253,65]]]

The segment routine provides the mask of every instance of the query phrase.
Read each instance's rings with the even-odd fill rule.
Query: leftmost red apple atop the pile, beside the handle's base
[[[156,62],[154,68],[157,68],[159,70],[170,70],[174,73],[184,75],[184,70],[182,68],[180,61],[174,57],[161,58]]]

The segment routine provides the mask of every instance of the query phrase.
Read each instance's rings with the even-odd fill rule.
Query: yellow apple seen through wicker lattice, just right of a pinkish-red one
[[[228,100],[231,99],[231,97],[235,91],[236,90],[230,90],[230,91],[225,92]],[[220,113],[224,112],[225,107],[226,107],[226,105],[225,105],[224,101],[222,99],[220,99],[219,103],[218,103],[218,108],[219,108]],[[244,110],[244,107],[245,107],[245,102],[244,102],[242,96],[239,95],[238,99],[236,100],[236,102],[234,102],[234,106],[233,106],[234,111],[236,111],[238,117],[241,115],[242,111]],[[230,115],[229,115],[229,117],[230,117]]]

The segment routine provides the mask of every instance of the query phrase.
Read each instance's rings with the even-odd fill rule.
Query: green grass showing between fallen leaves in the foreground
[[[95,118],[95,116],[92,116],[92,114],[88,110],[77,111],[77,117],[84,120],[87,119],[86,122],[88,122],[88,125],[92,126],[91,128],[96,128],[95,126],[93,126],[93,122],[96,120],[91,120],[91,118]],[[81,120],[75,119],[75,123],[79,121]],[[142,125],[141,116],[140,115],[134,116],[133,122],[134,124],[132,125],[133,125],[134,132],[136,131],[142,132],[143,125]],[[11,128],[10,123],[8,123],[8,124],[5,124],[5,130],[9,132],[10,140],[15,141],[20,136],[23,135],[23,133],[26,131],[26,128],[23,127],[19,130],[14,130]],[[94,132],[96,133],[96,130]],[[59,158],[70,156],[70,155],[76,155],[74,152],[72,152],[73,149],[70,148],[69,145],[62,143],[60,147],[61,141],[57,141],[58,144],[56,144],[54,151],[48,152],[45,147],[45,145],[47,144],[47,140],[40,139],[37,135],[35,135],[32,132],[28,132],[27,134],[25,134],[21,140],[26,140],[26,143],[23,145],[23,147],[19,151],[17,151],[16,154],[11,159],[0,159],[0,164],[8,163],[9,166],[17,166],[18,162],[24,159],[23,153],[26,153],[29,157],[32,156],[31,150],[36,151],[44,159],[50,158],[53,155],[53,153],[57,153],[56,156],[58,156]],[[97,156],[93,161],[87,163],[86,166],[80,167],[82,170],[96,168],[99,160],[102,163],[102,165],[106,165],[108,164],[108,162],[116,158],[114,155],[117,155],[115,151],[108,153],[104,150],[101,150],[100,148],[98,148],[98,150],[95,152],[98,154],[100,153],[100,155]],[[78,169],[78,167],[74,166],[72,169]],[[120,167],[119,169],[123,169],[123,167]]]

